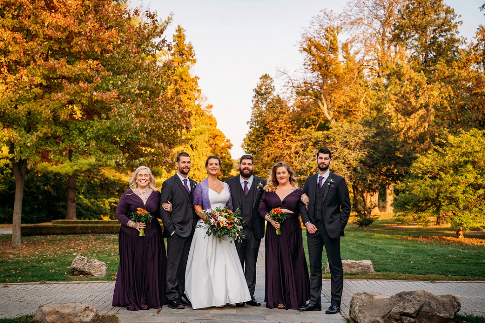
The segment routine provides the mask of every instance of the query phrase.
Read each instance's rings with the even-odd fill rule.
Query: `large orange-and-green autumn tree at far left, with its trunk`
[[[160,62],[168,21],[111,0],[2,0],[0,144],[16,181],[12,247],[20,247],[24,180],[39,162],[80,155],[159,165],[188,114]]]

